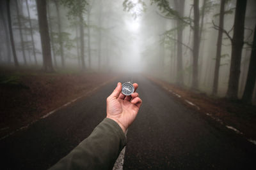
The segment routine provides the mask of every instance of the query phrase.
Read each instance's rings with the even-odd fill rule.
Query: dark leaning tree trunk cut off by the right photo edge
[[[254,29],[254,36],[253,36],[253,45],[252,45],[252,53],[250,58],[250,64],[246,79],[246,85],[244,88],[244,94],[242,97],[242,100],[244,103],[252,103],[252,95],[253,95],[253,89],[255,86],[255,80],[256,80],[256,25]]]

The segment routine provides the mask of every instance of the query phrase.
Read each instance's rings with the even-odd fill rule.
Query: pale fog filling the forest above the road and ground
[[[9,19],[6,2],[10,3]],[[223,27],[220,27],[221,1],[218,0],[201,0],[197,5],[190,0],[37,3],[40,3],[38,8],[33,0],[1,1],[1,67],[35,67],[47,72],[71,68],[104,73],[145,73],[215,96],[240,99],[244,94],[250,58],[255,57],[252,55],[256,23],[254,0],[247,1],[244,19],[237,16],[239,22],[244,20],[243,32],[239,24],[234,24],[237,10],[234,0],[225,1]],[[45,15],[47,22],[44,22]],[[243,18],[242,13],[238,15]],[[217,91],[214,92],[219,30],[223,37]],[[239,39],[234,31],[243,34],[240,59],[235,56],[239,53],[236,43],[232,45],[230,41]],[[10,34],[13,34],[13,44]],[[233,51],[232,46],[235,46]],[[13,52],[17,55],[16,62]],[[230,64],[232,57],[238,60],[234,66]],[[230,76],[230,68],[236,75]],[[238,87],[234,85],[237,76]],[[253,101],[256,98],[254,84],[255,79]]]

